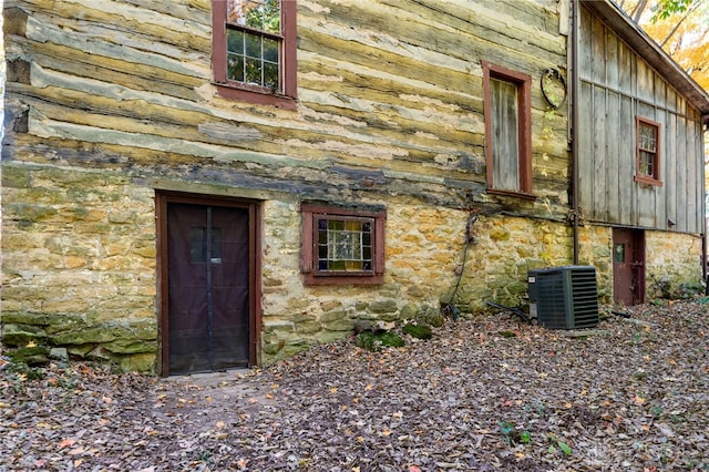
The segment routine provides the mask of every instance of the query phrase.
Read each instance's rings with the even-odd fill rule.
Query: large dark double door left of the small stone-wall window
[[[167,203],[168,371],[249,363],[249,211]]]

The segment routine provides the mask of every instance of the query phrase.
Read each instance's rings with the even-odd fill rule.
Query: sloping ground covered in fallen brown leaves
[[[568,337],[506,314],[161,380],[0,370],[0,471],[709,470],[709,299]]]

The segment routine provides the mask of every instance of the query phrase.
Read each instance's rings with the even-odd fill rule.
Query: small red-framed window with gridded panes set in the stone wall
[[[384,211],[302,204],[301,270],[308,285],[381,284]]]

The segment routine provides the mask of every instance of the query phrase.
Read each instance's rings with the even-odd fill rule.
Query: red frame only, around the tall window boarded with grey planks
[[[532,78],[528,74],[513,71],[489,61],[481,61],[483,66],[483,94],[485,117],[492,116],[492,98],[490,79],[500,79],[517,85],[517,106],[520,110],[518,147],[520,147],[520,192],[507,188],[494,188],[493,182],[493,140],[492,121],[485,120],[485,160],[487,165],[487,192],[501,195],[520,196],[535,199],[532,194]]]

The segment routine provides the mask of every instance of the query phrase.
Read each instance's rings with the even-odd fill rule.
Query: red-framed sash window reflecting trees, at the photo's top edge
[[[213,0],[212,28],[220,95],[295,109],[295,0]]]

